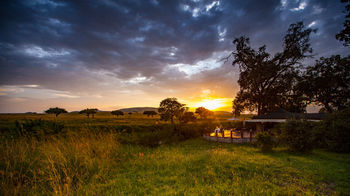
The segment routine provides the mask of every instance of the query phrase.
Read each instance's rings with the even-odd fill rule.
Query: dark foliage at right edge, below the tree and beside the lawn
[[[323,135],[326,147],[336,152],[350,152],[350,108],[332,113],[315,130]],[[320,137],[319,137],[320,138]]]

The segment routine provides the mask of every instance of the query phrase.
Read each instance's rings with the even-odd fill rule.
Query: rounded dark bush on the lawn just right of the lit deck
[[[306,120],[288,120],[280,126],[280,143],[294,152],[310,152],[314,147],[313,127]]]

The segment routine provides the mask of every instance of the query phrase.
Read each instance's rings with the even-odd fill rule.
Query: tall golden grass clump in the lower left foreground
[[[0,185],[5,195],[36,192],[67,195],[103,182],[117,166],[119,143],[111,132],[7,140],[0,146]]]

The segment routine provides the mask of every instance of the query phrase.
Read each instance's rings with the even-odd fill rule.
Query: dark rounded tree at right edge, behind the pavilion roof
[[[350,107],[350,56],[321,57],[307,68],[300,87],[310,102],[328,113]]]

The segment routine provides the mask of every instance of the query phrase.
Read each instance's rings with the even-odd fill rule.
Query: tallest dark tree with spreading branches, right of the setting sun
[[[305,110],[306,104],[296,87],[301,62],[311,57],[309,36],[315,31],[305,29],[302,22],[291,24],[284,37],[283,51],[273,56],[265,45],[252,49],[249,38],[233,41],[236,50],[230,55],[234,57],[232,65],[238,65],[240,70],[240,90],[233,101],[235,114],[246,109],[256,110],[258,115],[276,108]]]

